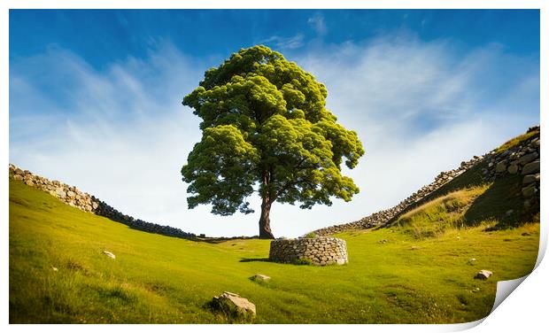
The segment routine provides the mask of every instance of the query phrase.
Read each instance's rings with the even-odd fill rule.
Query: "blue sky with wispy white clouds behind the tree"
[[[265,44],[323,82],[366,154],[332,206],[274,204],[274,236],[357,221],[539,123],[537,10],[11,10],[10,162],[135,218],[258,234],[256,213],[187,208],[204,72]]]

